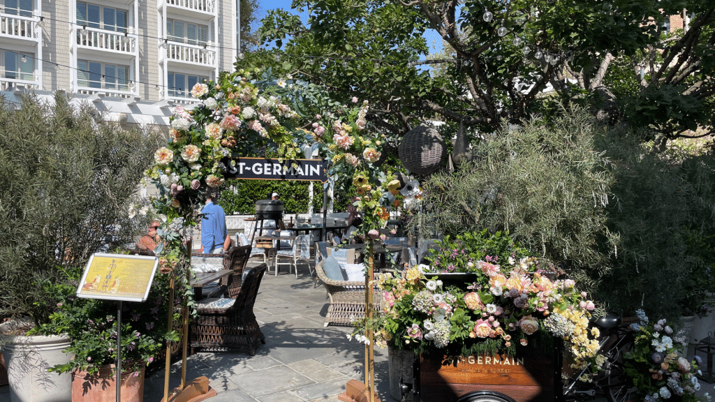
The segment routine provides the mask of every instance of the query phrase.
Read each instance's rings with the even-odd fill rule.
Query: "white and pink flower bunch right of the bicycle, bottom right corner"
[[[637,390],[637,398],[646,402],[699,401],[697,374],[699,356],[688,361],[681,353],[687,340],[666,320],[649,321],[638,310],[633,329],[633,349],[623,354],[623,371]],[[707,395],[706,395],[707,396]],[[709,399],[709,398],[708,398]]]

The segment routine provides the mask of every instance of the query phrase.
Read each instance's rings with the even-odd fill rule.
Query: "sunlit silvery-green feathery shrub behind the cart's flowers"
[[[613,175],[594,145],[598,129],[591,114],[576,106],[563,108],[553,124],[504,122],[476,147],[475,162],[426,180],[428,212],[411,220],[410,230],[452,236],[508,231],[533,253],[591,283],[608,270],[608,253],[596,243],[618,240],[605,230]]]

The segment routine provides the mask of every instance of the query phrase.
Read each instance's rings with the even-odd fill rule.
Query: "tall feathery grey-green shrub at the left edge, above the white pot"
[[[134,243],[148,217],[137,185],[157,134],[104,122],[90,104],[34,95],[0,104],[0,316],[51,312],[41,283],[92,253]]]

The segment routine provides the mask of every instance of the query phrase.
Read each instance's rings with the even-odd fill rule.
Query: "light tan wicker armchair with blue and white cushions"
[[[317,277],[325,283],[325,290],[330,297],[330,306],[325,314],[325,324],[352,326],[352,320],[365,318],[365,282],[350,280],[334,280],[327,278],[322,269],[322,263],[315,265]],[[379,292],[375,292],[373,297],[374,310],[380,310],[383,305],[383,298]]]

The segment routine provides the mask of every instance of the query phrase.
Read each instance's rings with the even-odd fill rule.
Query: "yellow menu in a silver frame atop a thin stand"
[[[79,281],[77,297],[143,302],[158,265],[157,257],[94,253]]]

